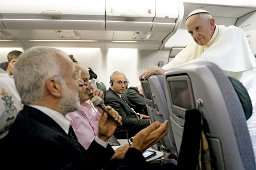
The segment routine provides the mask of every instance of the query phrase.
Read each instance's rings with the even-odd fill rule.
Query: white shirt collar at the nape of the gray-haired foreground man
[[[58,125],[60,125],[60,127],[65,131],[65,133],[68,134],[68,129],[69,129],[70,123],[68,120],[65,119],[63,114],[61,114],[57,111],[53,111],[52,109],[49,109],[46,107],[42,107],[40,105],[29,105],[29,106],[32,108],[36,108],[39,111],[46,114],[47,116],[51,117]]]

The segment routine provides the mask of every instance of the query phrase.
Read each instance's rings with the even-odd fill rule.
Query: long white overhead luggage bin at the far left
[[[0,12],[7,29],[105,30],[105,0],[1,0]]]

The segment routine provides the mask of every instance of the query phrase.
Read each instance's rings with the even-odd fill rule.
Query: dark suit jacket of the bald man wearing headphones
[[[104,103],[105,105],[110,105],[112,108],[114,108],[115,111],[117,111],[122,117],[123,125],[118,127],[114,133],[115,137],[118,139],[127,138],[125,131],[126,129],[128,131],[129,138],[131,138],[140,130],[150,125],[149,120],[138,119],[133,110],[131,110],[131,108],[128,107],[126,103],[111,88],[106,91]]]

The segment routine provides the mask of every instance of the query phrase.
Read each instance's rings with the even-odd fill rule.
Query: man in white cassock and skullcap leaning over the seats
[[[247,120],[256,159],[256,62],[242,29],[230,25],[214,24],[205,10],[192,11],[186,19],[186,28],[193,40],[167,65],[144,71],[139,79],[166,71],[189,61],[216,63],[226,75],[232,76],[245,86],[253,105],[253,114]]]

